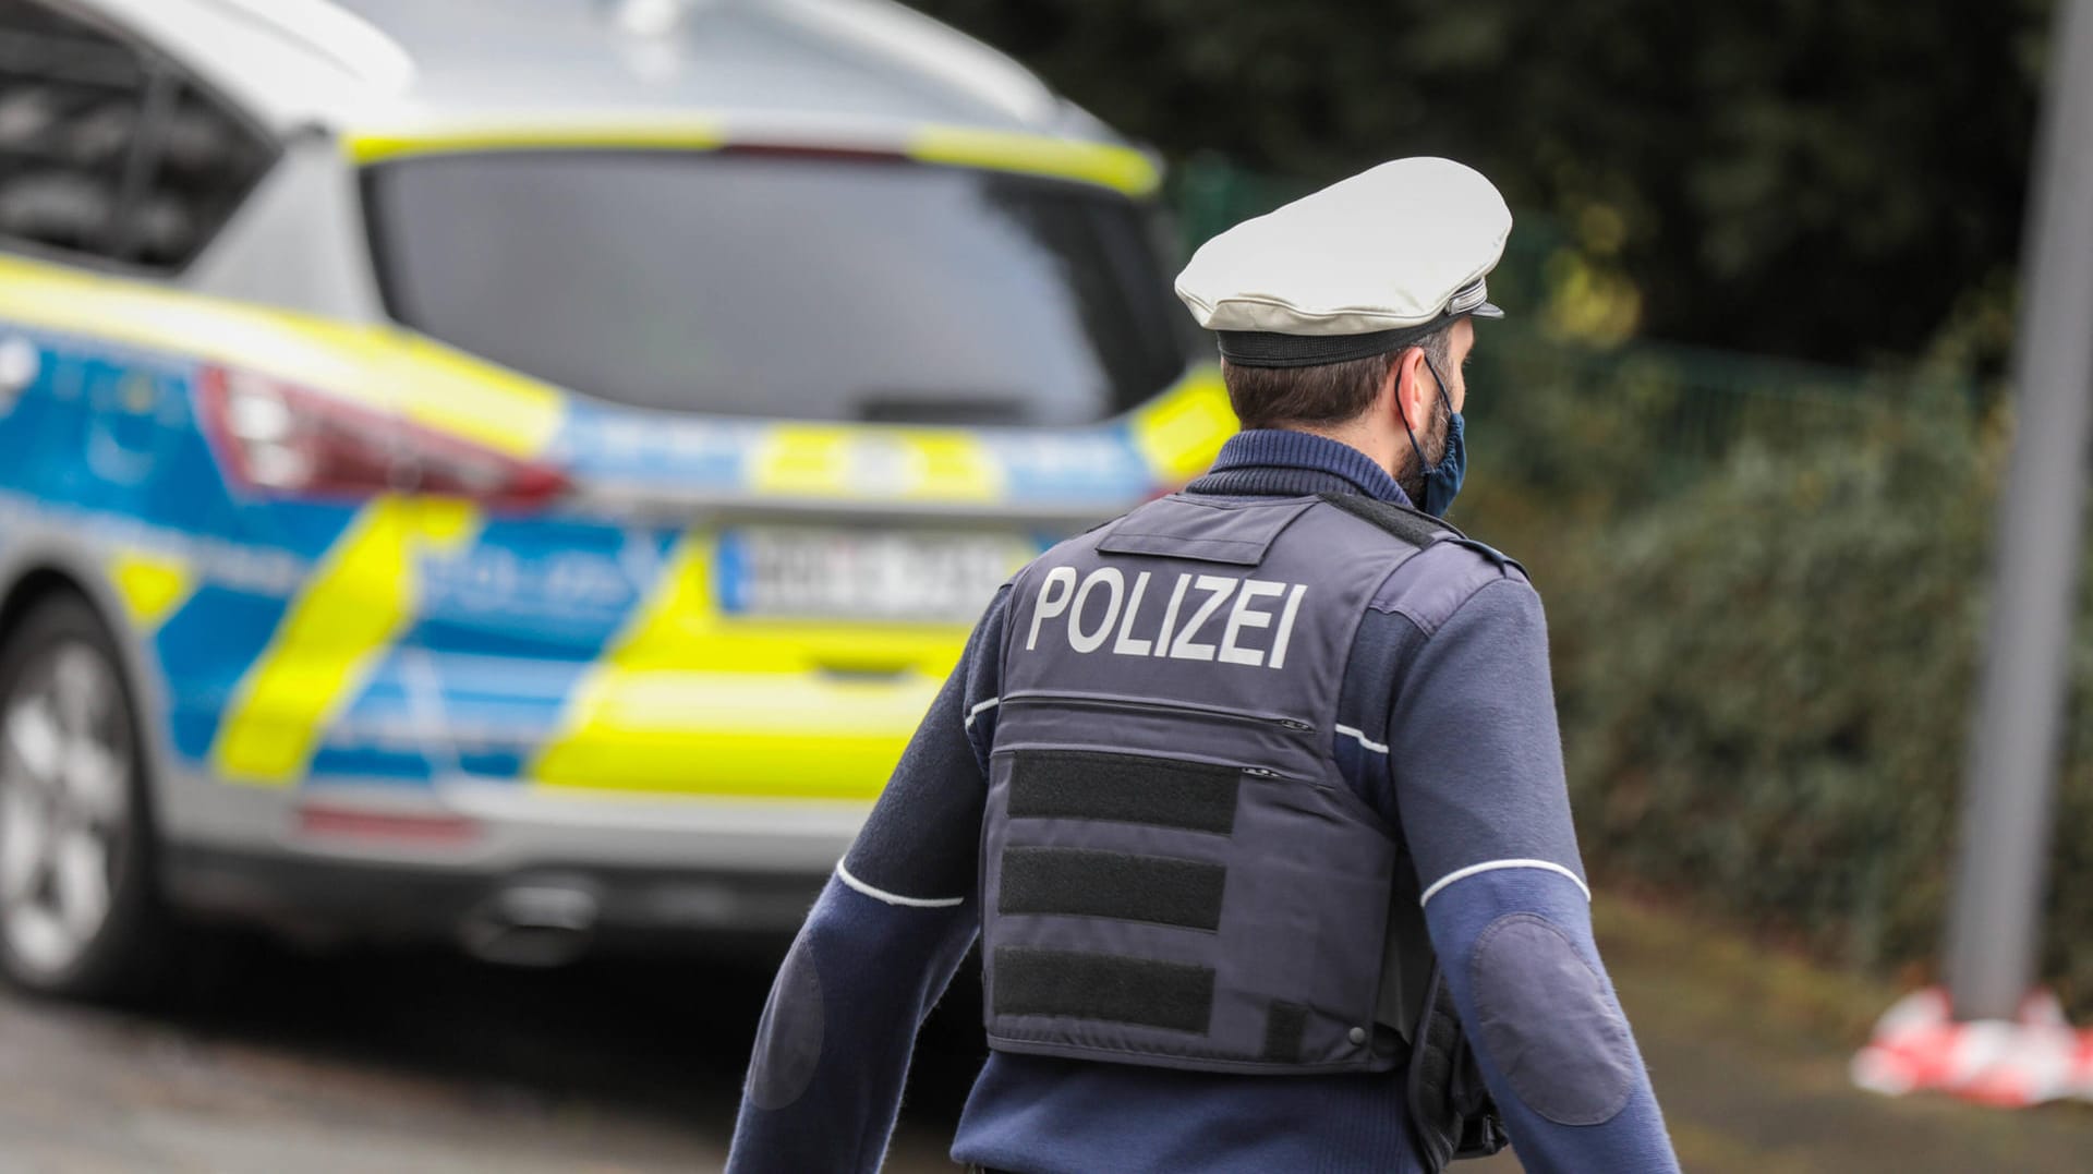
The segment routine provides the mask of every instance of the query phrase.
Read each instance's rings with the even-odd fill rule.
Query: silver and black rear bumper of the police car
[[[205,776],[170,799],[161,879],[186,912],[322,940],[452,940],[500,961],[789,935],[867,812],[473,783],[255,789]],[[517,927],[530,933],[509,933]],[[548,956],[511,956],[525,935]]]

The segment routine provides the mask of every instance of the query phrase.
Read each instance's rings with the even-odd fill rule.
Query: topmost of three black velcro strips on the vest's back
[[[1185,831],[1235,831],[1233,766],[1088,749],[1021,749],[1011,755],[1009,818],[1145,822]]]

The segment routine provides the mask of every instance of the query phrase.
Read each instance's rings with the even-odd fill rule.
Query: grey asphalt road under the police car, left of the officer
[[[770,979],[260,944],[218,971],[149,1013],[0,994],[0,1172],[718,1170]],[[969,1051],[925,1053],[890,1170],[957,1170]]]

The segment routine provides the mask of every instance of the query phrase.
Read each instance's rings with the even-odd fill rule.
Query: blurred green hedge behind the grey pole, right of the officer
[[[1710,391],[1637,387],[1499,389],[1520,410],[1473,429],[1478,454],[1553,456],[1507,460],[1459,517],[1549,603],[1589,862],[1919,977],[1953,873],[2003,439],[1953,393],[1827,412],[1735,389],[1773,410],[1681,477],[1660,437]],[[2057,827],[2045,979],[2093,1013],[2093,722],[2072,724]]]

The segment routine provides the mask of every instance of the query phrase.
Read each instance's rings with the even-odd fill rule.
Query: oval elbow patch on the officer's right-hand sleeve
[[[1639,1078],[1628,1021],[1570,935],[1530,912],[1499,917],[1469,961],[1482,1046],[1532,1111],[1599,1126]]]

